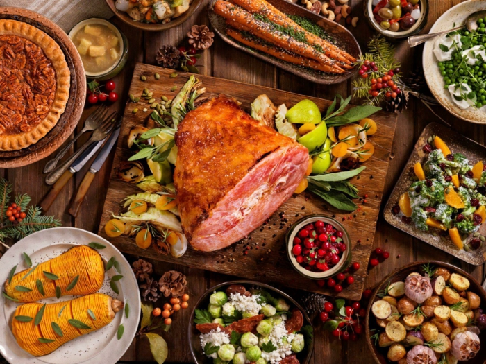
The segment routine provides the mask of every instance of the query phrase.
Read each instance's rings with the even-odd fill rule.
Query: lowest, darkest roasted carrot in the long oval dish
[[[337,73],[337,70],[334,67],[327,66],[326,64],[321,64],[315,60],[310,60],[309,58],[303,58],[299,55],[296,55],[295,53],[285,51],[285,49],[276,48],[267,44],[255,42],[247,37],[244,37],[242,33],[236,31],[233,28],[227,28],[226,34],[228,34],[230,37],[234,38],[238,42],[245,44],[246,46],[250,46],[251,48],[257,49],[258,51],[273,55],[279,60],[285,60],[286,62],[299,64],[300,66],[317,69],[323,72]]]

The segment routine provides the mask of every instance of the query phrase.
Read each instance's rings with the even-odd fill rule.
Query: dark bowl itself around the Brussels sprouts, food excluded
[[[201,306],[208,306],[209,297],[214,291],[222,290],[223,287],[231,286],[231,284],[243,284],[246,288],[258,286],[259,288],[265,288],[267,291],[273,292],[276,295],[285,298],[288,302],[292,304],[292,306],[299,309],[303,315],[305,325],[310,325],[312,327],[312,322],[310,321],[309,316],[305,313],[302,306],[296,302],[290,295],[287,293],[283,293],[282,291],[269,286],[268,284],[263,284],[257,281],[228,281],[221,284],[217,284],[216,286],[212,286],[208,289],[199,300],[197,300],[196,304],[194,305],[194,309],[192,309],[191,317],[189,319],[189,328],[187,329],[187,338],[189,340],[189,347],[191,349],[192,359],[196,364],[210,364],[212,363],[212,359],[208,358],[203,354],[203,350],[201,349],[201,343],[199,341],[199,331],[196,329],[196,325],[194,324],[194,316],[196,313],[196,309],[199,309]],[[223,290],[224,291],[224,290]],[[310,358],[312,358],[312,353],[314,352],[314,340],[312,339],[310,345],[305,345],[305,348],[302,352],[297,354],[297,358],[299,359],[301,364],[309,364]]]

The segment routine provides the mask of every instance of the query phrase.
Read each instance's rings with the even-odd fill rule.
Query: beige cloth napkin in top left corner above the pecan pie
[[[113,16],[105,0],[0,0],[0,6],[38,12],[58,24],[66,33],[84,19],[110,19]]]

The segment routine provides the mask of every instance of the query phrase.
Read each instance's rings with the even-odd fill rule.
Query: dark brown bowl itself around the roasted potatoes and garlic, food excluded
[[[376,286],[373,295],[371,295],[369,299],[369,304],[368,304],[368,309],[366,313],[366,320],[364,323],[364,329],[366,330],[366,340],[369,346],[369,349],[371,350],[371,353],[373,354],[373,357],[375,358],[376,363],[380,364],[391,364],[392,362],[387,359],[387,348],[381,348],[376,345],[374,345],[374,340],[371,339],[371,330],[372,329],[378,329],[378,324],[376,324],[376,320],[374,320],[374,315],[371,313],[371,305],[380,299],[378,297],[378,291],[385,289],[387,286],[388,282],[394,283],[396,281],[405,281],[405,278],[412,272],[419,272],[422,275],[424,274],[423,270],[421,269],[421,266],[424,264],[430,263],[430,266],[435,266],[436,268],[446,268],[449,270],[451,273],[457,273],[458,275],[462,275],[469,279],[469,282],[471,283],[471,286],[467,291],[471,291],[476,293],[481,299],[481,308],[483,310],[486,309],[486,292],[481,287],[478,281],[471,277],[467,272],[464,272],[464,270],[453,266],[452,264],[449,263],[444,263],[442,261],[417,261],[414,263],[410,263],[407,266],[404,266],[403,268],[400,268],[399,270],[395,270],[394,272],[391,272],[383,281],[380,281],[380,284]],[[370,320],[371,319],[371,320]],[[383,330],[383,329],[382,329]],[[484,364],[485,357],[486,357],[486,330],[482,331],[479,335],[480,341],[481,341],[481,349],[476,355],[475,358],[472,358],[471,360],[467,361],[468,364]],[[406,356],[405,356],[406,358]],[[437,363],[439,361],[437,360]],[[466,363],[466,362],[460,362],[460,363]]]

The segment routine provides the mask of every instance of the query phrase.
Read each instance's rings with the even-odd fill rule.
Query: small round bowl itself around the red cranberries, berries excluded
[[[330,270],[326,270],[325,272],[311,272],[310,270],[303,268],[303,266],[301,266],[296,261],[295,256],[292,253],[292,248],[294,246],[294,237],[299,232],[299,230],[309,223],[315,223],[317,220],[324,221],[324,223],[333,225],[338,230],[342,231],[342,242],[346,245],[346,250],[342,252],[340,261],[335,266],[333,266],[333,268],[330,268]],[[351,241],[349,240],[348,232],[346,231],[344,226],[341,225],[334,218],[330,218],[324,215],[308,215],[304,216],[300,220],[297,220],[294,225],[292,225],[287,231],[287,234],[285,235],[285,243],[287,244],[287,257],[289,258],[292,267],[294,267],[294,269],[301,275],[309,279],[327,279],[333,277],[334,275],[337,275],[337,273],[343,272],[344,270],[346,270],[346,268],[348,268],[349,264],[351,263],[353,255],[351,253]]]

